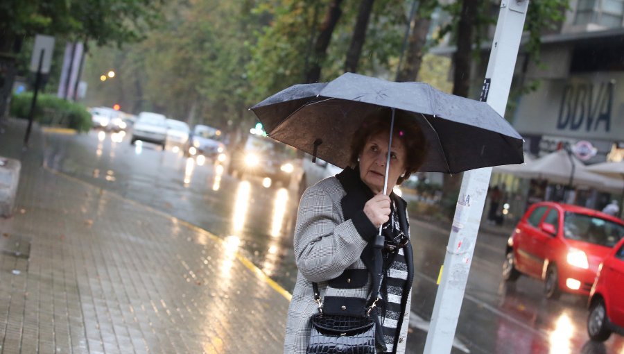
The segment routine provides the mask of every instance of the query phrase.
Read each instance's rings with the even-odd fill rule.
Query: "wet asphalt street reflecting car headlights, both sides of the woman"
[[[147,143],[132,146],[121,133],[46,134],[44,149],[46,167],[228,239],[281,287],[293,288],[296,188],[239,180],[209,160]],[[408,353],[422,353],[449,231],[413,219],[411,235],[416,276]],[[617,335],[605,344],[589,342],[586,298],[549,301],[542,284],[526,277],[505,285],[505,242],[501,235],[478,236],[453,353],[624,353]]]

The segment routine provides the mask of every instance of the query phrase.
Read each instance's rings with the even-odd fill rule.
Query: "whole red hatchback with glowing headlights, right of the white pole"
[[[523,273],[544,280],[547,298],[589,295],[600,262],[623,237],[624,222],[603,212],[535,203],[508,240],[503,278],[513,281]]]

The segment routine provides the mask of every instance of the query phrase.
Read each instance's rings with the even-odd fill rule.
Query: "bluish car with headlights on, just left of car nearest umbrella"
[[[184,155],[204,155],[218,162],[225,161],[225,136],[222,130],[198,124],[193,128]]]

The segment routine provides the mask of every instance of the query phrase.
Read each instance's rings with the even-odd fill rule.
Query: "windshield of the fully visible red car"
[[[564,237],[613,247],[624,237],[624,226],[587,214],[566,212]]]

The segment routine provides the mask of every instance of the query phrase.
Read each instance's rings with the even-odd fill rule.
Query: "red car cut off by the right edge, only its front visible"
[[[603,260],[589,295],[587,332],[605,341],[611,332],[624,335],[624,239]]]

